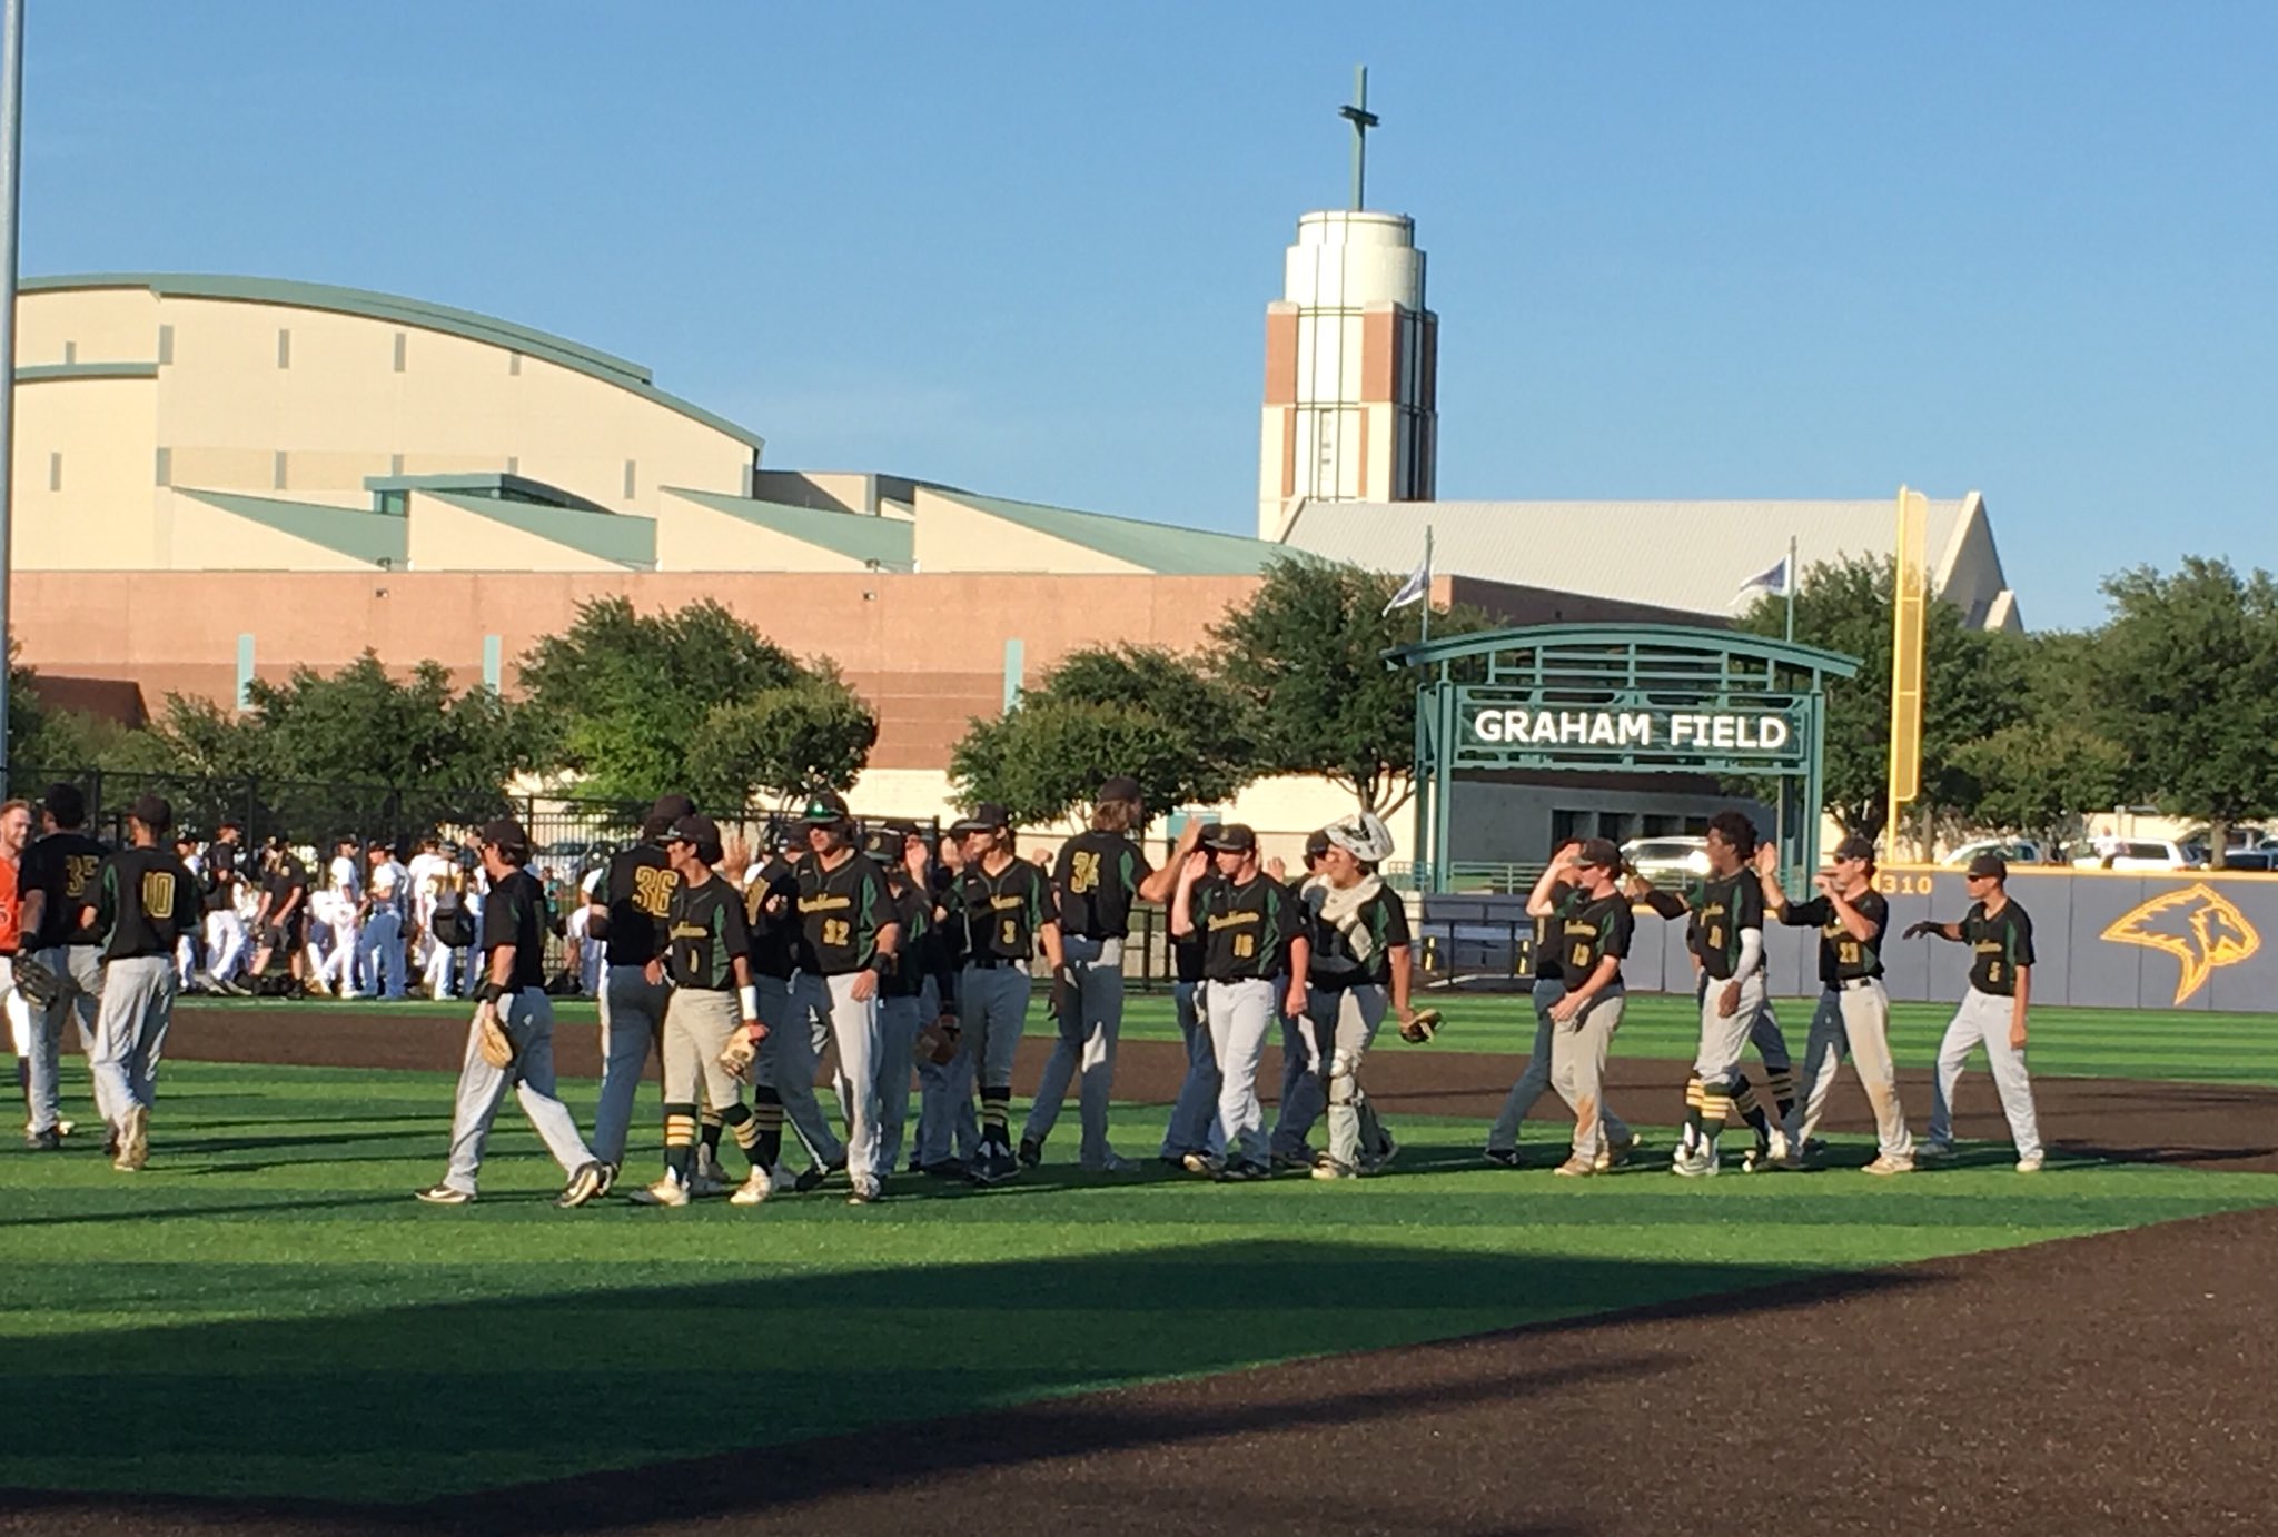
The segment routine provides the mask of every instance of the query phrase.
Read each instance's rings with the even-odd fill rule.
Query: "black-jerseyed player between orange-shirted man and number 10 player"
[[[87,836],[87,797],[75,783],[52,783],[41,802],[41,824],[48,829],[23,852],[16,886],[23,895],[23,934],[30,968],[52,979],[50,997],[32,1011],[30,1070],[25,1100],[32,1145],[62,1136],[57,1116],[57,1059],[62,1057],[64,1020],[80,1029],[80,1045],[96,1050],[96,1004],[103,997],[103,936],[87,927],[84,911],[103,868],[105,849]],[[18,988],[25,977],[16,979]],[[107,1141],[116,1143],[112,1125]],[[116,1152],[116,1148],[112,1148]]]

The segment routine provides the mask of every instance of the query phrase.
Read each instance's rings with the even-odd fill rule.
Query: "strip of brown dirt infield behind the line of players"
[[[328,1068],[417,1068],[451,1072],[465,1052],[467,1027],[440,1016],[378,1013],[374,1009],[203,1006],[185,1009],[166,1038],[169,1057],[189,1061],[269,1061]],[[1021,1043],[1014,1088],[1030,1093],[1050,1052],[1034,1031]],[[1280,1054],[1269,1050],[1262,1088],[1280,1084]],[[601,1070],[597,1031],[570,1025],[556,1031],[556,1061],[567,1075]],[[1369,1054],[1369,1098],[1387,1116],[1494,1118],[1517,1072],[1517,1057],[1380,1045]],[[1169,1104],[1187,1063],[1166,1041],[1130,1041],[1116,1061],[1116,1098]],[[1608,1063],[1608,1100],[1647,1125],[1674,1123],[1683,1063],[1622,1059]],[[1920,1125],[1929,1111],[1929,1075],[1902,1072],[1900,1093]],[[1269,1095],[1271,1098],[1271,1095]],[[1672,1104],[1677,1100],[1677,1104]],[[2007,1125],[1984,1072],[1964,1082],[1955,1129],[1964,1139],[2007,1139]],[[2189,1164],[2198,1168],[2278,1173],[2278,1091],[2214,1084],[2130,1084],[2093,1077],[2037,1077],[2041,1136],[2059,1154],[2096,1154]],[[1533,1136],[1551,1136],[1563,1109],[1547,1095],[1535,1109]],[[1866,1095],[1845,1072],[1829,1100],[1827,1129],[1873,1132]]]

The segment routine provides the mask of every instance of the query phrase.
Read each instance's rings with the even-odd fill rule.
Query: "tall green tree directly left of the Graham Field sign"
[[[1417,642],[1424,608],[1387,615],[1399,585],[1399,576],[1285,556],[1246,606],[1212,626],[1212,669],[1242,701],[1260,772],[1321,774],[1378,815],[1408,799],[1417,679],[1387,667],[1385,651]],[[1440,635],[1490,624],[1467,606],[1433,615]]]

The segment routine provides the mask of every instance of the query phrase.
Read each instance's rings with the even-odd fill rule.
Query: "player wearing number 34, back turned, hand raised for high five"
[[[1107,1145],[1107,1100],[1116,1082],[1116,1041],[1123,1036],[1123,940],[1130,938],[1132,899],[1169,897],[1178,861],[1201,836],[1198,827],[1185,833],[1171,863],[1155,870],[1132,843],[1132,831],[1144,829],[1139,781],[1116,774],[1093,797],[1091,829],[1059,847],[1052,895],[1059,904],[1059,947],[1068,956],[1066,1009],[1059,1011],[1059,1038],[1043,1063],[1027,1127],[1021,1132],[1021,1161],[1027,1166],[1041,1161],[1043,1139],[1059,1120],[1068,1082],[1082,1072],[1082,1166],[1091,1173],[1132,1168],[1130,1159]]]

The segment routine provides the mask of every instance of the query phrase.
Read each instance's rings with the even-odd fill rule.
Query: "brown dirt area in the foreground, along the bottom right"
[[[2269,1532],[2273,1268],[2244,1211],[417,1510],[0,1496],[0,1532]]]

